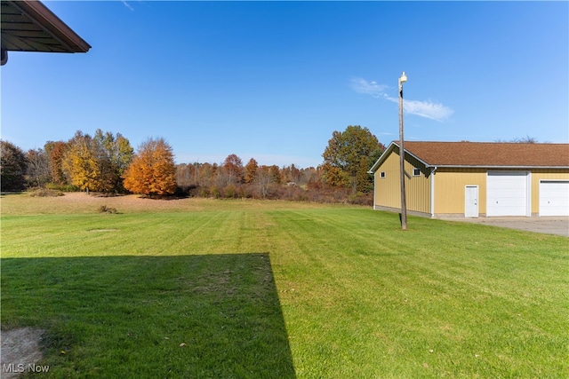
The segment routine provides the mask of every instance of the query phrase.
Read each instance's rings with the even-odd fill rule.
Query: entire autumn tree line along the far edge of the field
[[[120,133],[77,131],[68,141],[48,141],[28,150],[0,141],[2,191],[44,187],[60,191],[140,193],[214,198],[287,199],[371,203],[367,173],[385,146],[367,128],[334,131],[324,162],[299,168],[244,164],[236,154],[220,163],[175,164],[164,138],[149,138],[136,153]]]

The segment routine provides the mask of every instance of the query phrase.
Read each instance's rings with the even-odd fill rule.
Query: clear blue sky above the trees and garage
[[[334,130],[569,142],[567,2],[44,2],[86,54],[10,52],[2,138],[164,137],[176,162],[317,166]]]

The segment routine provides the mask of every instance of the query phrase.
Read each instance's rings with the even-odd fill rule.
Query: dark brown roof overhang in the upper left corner
[[[2,0],[2,65],[8,51],[87,52],[91,48],[44,4]]]

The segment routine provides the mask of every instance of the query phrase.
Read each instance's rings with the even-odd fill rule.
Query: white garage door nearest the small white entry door
[[[527,171],[488,171],[486,216],[530,216]]]

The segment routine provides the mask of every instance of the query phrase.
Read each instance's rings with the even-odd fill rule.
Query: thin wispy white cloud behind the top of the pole
[[[389,89],[389,85],[368,82],[362,78],[354,78],[351,83],[352,89],[357,91],[357,93],[370,95],[374,98],[386,99],[394,103],[399,102],[398,98],[389,96],[386,92],[386,90]],[[403,102],[403,110],[408,114],[415,114],[439,122],[445,121],[454,113],[453,109],[441,103],[408,99],[405,99]]]

